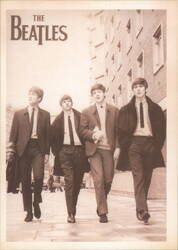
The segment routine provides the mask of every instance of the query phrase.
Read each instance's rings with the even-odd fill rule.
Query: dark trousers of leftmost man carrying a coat
[[[22,196],[25,211],[32,211],[32,180],[34,181],[34,202],[42,202],[41,192],[44,178],[44,155],[41,154],[38,140],[30,139],[23,155],[19,158],[22,183]]]

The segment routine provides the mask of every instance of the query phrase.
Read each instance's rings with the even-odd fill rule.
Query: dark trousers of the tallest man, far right
[[[134,181],[136,211],[148,211],[147,196],[151,183],[156,148],[153,137],[134,136],[129,147],[129,163]]]

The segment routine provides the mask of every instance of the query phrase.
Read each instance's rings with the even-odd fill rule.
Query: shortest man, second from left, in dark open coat
[[[64,175],[67,222],[75,223],[78,195],[88,160],[79,136],[80,112],[72,108],[73,101],[69,95],[61,98],[60,105],[63,111],[51,126],[51,149],[55,156],[54,174]]]

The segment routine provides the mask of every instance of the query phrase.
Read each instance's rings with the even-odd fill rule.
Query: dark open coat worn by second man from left
[[[74,123],[75,123],[75,130],[76,133],[81,141],[81,143],[84,145],[84,142],[82,138],[79,135],[79,126],[80,126],[80,117],[81,113],[77,110],[73,109],[74,112]],[[60,159],[59,159],[59,151],[61,150],[64,142],[64,112],[62,111],[54,120],[54,122],[51,125],[51,150],[52,153],[55,156],[54,159],[54,172],[53,174],[56,176],[63,176],[63,171],[60,166]],[[85,172],[89,171],[89,163],[88,159],[86,158],[86,162],[84,164],[84,170]]]

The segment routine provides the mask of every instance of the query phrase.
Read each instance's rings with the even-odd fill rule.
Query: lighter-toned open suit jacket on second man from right
[[[119,110],[113,105],[106,104],[106,136],[111,150],[119,147],[117,120]],[[97,144],[92,139],[95,127],[101,128],[100,118],[96,104],[82,111],[80,122],[80,135],[85,140],[86,155],[92,156],[97,148]]]

